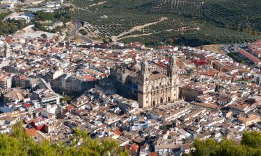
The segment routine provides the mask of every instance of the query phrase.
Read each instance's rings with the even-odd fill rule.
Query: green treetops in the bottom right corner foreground
[[[261,132],[244,132],[241,144],[223,139],[216,142],[213,139],[206,141],[195,140],[191,156],[258,156],[261,155]]]

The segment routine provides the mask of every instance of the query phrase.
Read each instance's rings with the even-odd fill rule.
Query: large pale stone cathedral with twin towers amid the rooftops
[[[166,71],[166,70],[165,70]],[[175,56],[169,58],[167,71],[136,60],[130,67],[111,69],[109,79],[117,94],[138,101],[139,107],[150,108],[178,100],[178,74]]]

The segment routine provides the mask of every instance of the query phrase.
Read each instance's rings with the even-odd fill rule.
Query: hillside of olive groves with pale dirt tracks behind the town
[[[70,0],[69,3],[75,6],[74,19],[86,21],[84,29],[90,37],[190,46],[261,38],[260,0]],[[165,20],[161,21],[162,18]]]

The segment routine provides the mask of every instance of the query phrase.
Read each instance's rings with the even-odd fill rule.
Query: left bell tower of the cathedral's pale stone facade
[[[138,83],[139,107],[150,107],[150,68],[148,62],[141,64],[141,76]]]

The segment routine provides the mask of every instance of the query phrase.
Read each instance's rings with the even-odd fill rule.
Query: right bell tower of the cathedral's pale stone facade
[[[177,100],[179,95],[178,91],[178,74],[177,74],[177,60],[175,55],[171,55],[169,58],[168,62],[168,67],[167,67],[167,76],[170,78],[170,83],[171,83],[171,102],[174,100]]]

